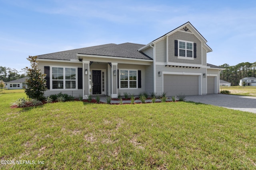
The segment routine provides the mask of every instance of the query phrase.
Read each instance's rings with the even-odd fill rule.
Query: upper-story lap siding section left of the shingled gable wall
[[[166,62],[166,39],[162,39],[155,45],[156,50],[156,61]]]

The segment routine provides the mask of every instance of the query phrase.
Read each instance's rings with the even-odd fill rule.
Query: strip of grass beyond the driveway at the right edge
[[[256,86],[220,86],[220,90],[229,90],[235,95],[256,96]]]

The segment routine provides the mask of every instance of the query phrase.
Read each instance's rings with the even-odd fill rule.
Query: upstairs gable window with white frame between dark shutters
[[[193,42],[178,40],[178,56],[193,58]]]

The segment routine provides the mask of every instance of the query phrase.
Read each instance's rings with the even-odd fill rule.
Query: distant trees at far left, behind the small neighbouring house
[[[26,77],[25,68],[22,68],[21,70],[22,72],[14,68],[0,66],[0,80],[3,80],[4,82],[10,82],[12,80]]]

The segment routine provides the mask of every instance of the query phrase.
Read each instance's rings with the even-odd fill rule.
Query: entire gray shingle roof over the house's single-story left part
[[[101,55],[101,56],[152,60],[150,57],[148,57],[144,53],[138,52],[138,49],[140,49],[143,46],[145,45],[134,44],[134,43],[123,43],[118,45],[105,44],[105,45],[98,45],[98,46],[86,47],[81,49],[61,51],[57,53],[38,55],[38,59],[71,60],[71,59],[78,59],[77,54],[87,54],[87,55]]]

